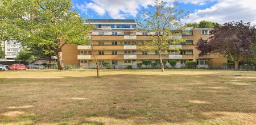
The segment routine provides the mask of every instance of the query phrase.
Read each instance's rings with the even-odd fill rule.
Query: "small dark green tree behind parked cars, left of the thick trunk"
[[[35,61],[34,56],[32,56],[31,52],[27,51],[26,49],[19,51],[18,56],[14,60],[26,62]]]

